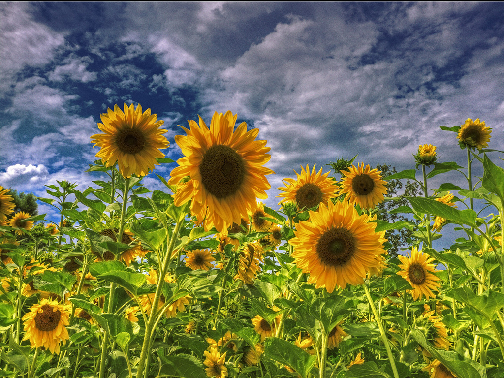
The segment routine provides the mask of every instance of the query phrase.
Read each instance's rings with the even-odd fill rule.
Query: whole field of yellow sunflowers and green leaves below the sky
[[[504,169],[485,122],[442,127],[467,162],[426,144],[389,177],[308,164],[274,210],[258,202],[270,148],[236,119],[188,121],[177,166],[157,175],[166,190],[151,192],[142,178],[173,162],[163,121],[108,109],[87,170],[107,179],[39,198],[57,225],[14,213],[0,186],[0,376],[504,377]],[[451,171],[467,186],[429,185]],[[401,199],[390,179],[422,187],[393,210],[407,220],[380,219],[377,205]],[[465,236],[436,250],[447,224]],[[405,256],[389,257],[385,232],[404,228]]]

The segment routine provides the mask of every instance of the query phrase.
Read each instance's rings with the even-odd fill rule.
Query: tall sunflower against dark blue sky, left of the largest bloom
[[[159,149],[170,145],[163,137],[167,130],[159,129],[164,121],[156,121],[157,114],[151,114],[150,108],[142,112],[140,104],[137,109],[124,104],[122,111],[114,105],[113,111],[108,108],[100,117],[103,123],[98,123],[98,129],[105,134],[93,135],[91,143],[101,148],[96,156],[107,167],[117,162],[123,177],[145,176],[159,164],[156,158],[164,157]]]

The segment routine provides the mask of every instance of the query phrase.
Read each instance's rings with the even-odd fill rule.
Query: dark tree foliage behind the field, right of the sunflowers
[[[382,177],[390,176],[397,173],[396,167],[391,167],[388,164],[377,164],[376,169],[382,171]],[[404,194],[397,196],[397,193],[403,188],[403,183],[400,179],[392,179],[387,182],[388,197],[397,197],[396,201],[382,202],[377,206],[379,210],[377,217],[378,219],[385,220],[390,223],[394,223],[399,220],[410,220],[401,214],[390,214],[389,212],[393,209],[397,209],[399,206],[409,206],[409,202],[404,197],[417,197],[423,194],[420,185],[416,182],[406,180],[404,185]],[[413,222],[416,222],[414,219]],[[386,244],[388,247],[389,256],[396,257],[399,249],[401,247],[410,246],[414,240],[413,231],[403,228],[402,230],[388,230],[385,233],[385,237],[389,240]]]

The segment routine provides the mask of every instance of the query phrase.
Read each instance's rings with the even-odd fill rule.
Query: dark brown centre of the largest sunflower
[[[229,146],[212,146],[203,155],[200,165],[201,181],[216,198],[235,194],[245,177],[243,159]]]

